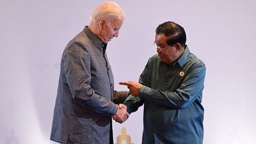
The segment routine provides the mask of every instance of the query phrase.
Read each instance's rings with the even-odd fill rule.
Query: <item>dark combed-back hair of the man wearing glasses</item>
[[[185,41],[187,40],[184,28],[172,21],[159,24],[156,28],[156,34],[164,34],[169,37],[167,40],[169,46],[175,43],[180,43],[181,46],[185,46]]]

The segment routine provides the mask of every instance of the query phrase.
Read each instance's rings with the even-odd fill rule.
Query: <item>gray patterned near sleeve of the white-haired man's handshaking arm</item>
[[[97,113],[115,114],[116,105],[91,87],[91,56],[81,43],[72,43],[63,57],[63,67],[72,96]]]

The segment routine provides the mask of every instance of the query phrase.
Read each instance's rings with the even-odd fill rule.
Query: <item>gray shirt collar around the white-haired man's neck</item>
[[[104,50],[104,47],[106,47],[107,44],[105,44],[100,38],[98,38],[94,33],[92,33],[92,31],[89,30],[88,25],[85,26],[83,31],[84,31],[85,34],[87,34],[89,39],[91,39],[92,43],[94,43],[94,45],[98,49],[100,49],[101,51]]]

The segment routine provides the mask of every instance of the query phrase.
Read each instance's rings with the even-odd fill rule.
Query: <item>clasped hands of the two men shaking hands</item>
[[[118,123],[123,123],[128,119],[130,114],[127,112],[127,107],[124,104],[117,105],[117,112],[114,114],[113,120],[115,120]]]

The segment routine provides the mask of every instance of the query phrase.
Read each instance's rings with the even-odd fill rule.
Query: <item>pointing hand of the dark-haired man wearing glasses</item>
[[[142,88],[142,84],[138,83],[138,82],[133,82],[133,81],[128,81],[128,82],[119,82],[120,85],[127,85],[130,89],[130,93],[135,96],[135,97],[139,97],[139,91],[140,88]]]

